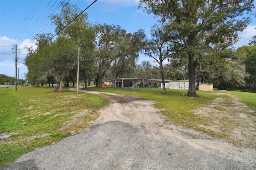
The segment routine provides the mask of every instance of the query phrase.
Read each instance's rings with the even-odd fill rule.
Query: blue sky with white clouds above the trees
[[[55,26],[47,18],[49,14],[56,14],[58,8],[55,0],[0,0],[0,74],[15,77],[15,46],[18,45],[18,61],[23,61],[27,54],[25,45],[34,44],[36,34],[54,33]],[[68,0],[62,0],[68,2]],[[56,2],[56,4],[54,4]],[[69,3],[77,4],[84,10],[92,0],[70,0]],[[127,32],[136,32],[142,28],[150,37],[150,28],[157,22],[153,15],[144,14],[138,9],[139,0],[98,0],[88,10],[88,20],[92,23],[120,25]],[[51,8],[53,6],[53,8]],[[256,6],[256,0],[254,0]],[[56,7],[56,8],[55,8]],[[254,9],[254,13],[255,9]],[[256,34],[256,18],[240,33],[240,44],[248,45],[252,36]],[[138,62],[150,60],[140,56]],[[153,64],[153,63],[152,63]],[[27,73],[27,68],[22,63],[18,64],[19,77]]]

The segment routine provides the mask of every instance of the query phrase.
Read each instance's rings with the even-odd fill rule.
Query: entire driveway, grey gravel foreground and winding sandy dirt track
[[[91,128],[24,154],[16,164],[3,169],[256,169],[255,148],[234,146],[196,130],[170,125],[152,101],[80,92],[107,95],[112,104],[100,111]],[[198,114],[207,115],[207,108],[199,110]],[[248,124],[255,127],[251,119]],[[208,128],[218,129],[217,125]],[[255,141],[255,134],[251,136],[248,142]]]

